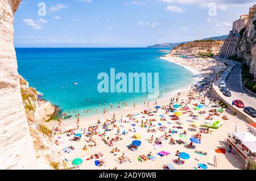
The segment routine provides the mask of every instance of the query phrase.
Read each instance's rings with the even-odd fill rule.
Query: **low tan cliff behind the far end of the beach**
[[[171,50],[171,54],[197,55],[199,53],[212,53],[217,55],[223,44],[223,40],[195,40],[178,45]]]

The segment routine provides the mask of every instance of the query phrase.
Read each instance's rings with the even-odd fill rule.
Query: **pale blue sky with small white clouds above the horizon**
[[[38,14],[40,2],[46,5],[46,16]],[[254,3],[254,0],[23,0],[15,14],[15,47],[146,47],[228,35],[232,22],[247,14]],[[215,11],[210,7],[215,5],[216,16],[211,16],[209,10]]]

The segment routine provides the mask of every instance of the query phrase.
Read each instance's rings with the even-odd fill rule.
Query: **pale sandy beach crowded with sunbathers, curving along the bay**
[[[213,81],[220,70],[225,69],[225,65],[217,62],[216,60],[205,60],[203,58],[186,59],[180,57],[164,56],[163,61],[171,61],[175,64],[184,66],[188,70],[195,74],[195,81],[200,81],[204,78],[208,79],[210,87],[210,81]],[[206,83],[205,89],[199,91],[198,87],[191,85],[183,87],[182,90],[165,94],[162,98],[159,98],[155,104],[155,100],[150,102],[149,106],[137,105],[134,107],[120,108],[115,111],[115,119],[113,119],[113,111],[109,111],[105,115],[97,114],[88,117],[82,117],[79,122],[79,129],[77,129],[77,120],[69,119],[68,121],[62,121],[61,125],[57,121],[50,121],[46,123],[49,128],[58,127],[60,130],[55,130],[54,139],[56,142],[56,149],[60,150],[64,157],[67,159],[69,167],[73,167],[72,160],[75,158],[81,158],[82,164],[77,166],[76,169],[163,169],[163,165],[170,163],[175,169],[202,169],[198,165],[200,163],[205,164],[207,169],[242,169],[244,163],[237,154],[222,154],[216,153],[216,149],[224,148],[228,149],[226,143],[226,137],[228,132],[232,132],[237,125],[238,131],[246,131],[245,122],[239,117],[236,117],[230,113],[229,110],[223,109],[223,112],[218,112],[216,115],[210,116],[213,121],[220,121],[223,123],[218,129],[209,129],[193,125],[196,121],[200,125],[204,124],[205,117],[211,113],[213,109],[220,109],[217,107],[217,103],[213,102],[210,94],[209,87]],[[191,94],[189,95],[189,91]],[[180,92],[179,96],[177,93]],[[171,98],[174,100],[171,102]],[[195,107],[204,99],[203,107],[200,110],[195,110]],[[176,108],[177,112],[181,112],[182,115],[176,116],[179,120],[172,120],[172,116],[175,112],[166,110],[169,107],[174,110],[174,105],[177,104],[180,107]],[[160,106],[156,110],[155,106]],[[213,107],[212,107],[213,106]],[[150,114],[143,114],[144,110],[151,112]],[[149,111],[151,110],[151,111]],[[191,116],[193,112],[194,116]],[[128,116],[127,115],[133,115]],[[122,116],[122,121],[121,121]],[[226,116],[228,120],[223,120],[222,116]],[[151,122],[150,119],[155,121]],[[100,123],[97,123],[100,120]],[[147,124],[145,123],[147,121]],[[143,124],[142,124],[143,121]],[[108,131],[103,127],[107,124]],[[143,127],[145,126],[146,127]],[[193,127],[192,127],[193,126]],[[90,127],[90,128],[89,128]],[[119,129],[119,134],[118,134]],[[154,129],[155,132],[148,132],[148,129]],[[163,130],[164,129],[164,130]],[[172,132],[169,132],[171,129]],[[66,132],[65,132],[66,131]],[[125,131],[125,134],[122,133]],[[185,131],[185,132],[184,132]],[[207,132],[207,133],[206,133]],[[70,136],[67,136],[67,133]],[[73,134],[81,133],[80,141],[71,141],[74,137]],[[85,134],[84,134],[85,133]],[[136,139],[134,135],[139,133],[141,138]],[[195,144],[195,149],[186,148],[189,145],[189,138],[195,136],[195,134],[201,134],[201,144]],[[88,134],[86,136],[86,134]],[[89,135],[91,134],[91,135]],[[101,135],[104,134],[104,135]],[[170,136],[169,136],[170,135]],[[184,135],[184,136],[182,136]],[[112,138],[116,137],[122,140],[111,142]],[[153,136],[153,142],[150,142],[151,136]],[[180,138],[180,136],[182,138]],[[107,138],[109,137],[109,140]],[[156,138],[159,138],[159,142],[155,142]],[[170,139],[182,140],[185,144],[172,144]],[[91,139],[91,141],[89,141]],[[93,141],[92,141],[93,140]],[[130,145],[132,141],[141,141],[141,146],[137,150],[130,150],[127,145]],[[94,142],[95,141],[95,142]],[[96,146],[94,146],[94,144]],[[72,151],[64,153],[63,148],[67,148],[72,145]],[[92,145],[92,147],[90,147]],[[86,149],[84,150],[84,146]],[[110,153],[113,149],[117,148],[119,151]],[[178,158],[176,151],[185,152],[189,154],[189,159],[182,159],[183,165],[176,164],[174,160]],[[150,153],[154,160],[146,159],[148,153]],[[158,153],[165,151],[164,153],[170,153],[160,157]],[[195,153],[195,151],[202,151],[207,155]],[[119,157],[125,154],[126,162],[119,163]],[[102,154],[102,157],[101,157]],[[144,155],[145,157],[139,157]],[[217,157],[217,167],[213,166],[213,157]],[[141,159],[140,159],[141,158]],[[143,160],[144,159],[144,160]],[[101,161],[102,166],[96,166],[95,161]]]

